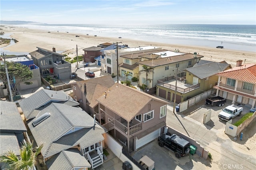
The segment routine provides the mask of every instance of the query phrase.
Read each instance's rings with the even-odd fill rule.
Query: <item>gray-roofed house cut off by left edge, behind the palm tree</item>
[[[16,156],[20,156],[20,146],[22,140],[27,136],[27,128],[22,121],[16,103],[0,101],[0,110],[0,155],[12,150]],[[1,163],[0,168],[8,167]]]

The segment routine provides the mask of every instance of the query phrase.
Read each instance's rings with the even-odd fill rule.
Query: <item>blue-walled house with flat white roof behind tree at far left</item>
[[[2,57],[0,59],[3,61]],[[33,76],[31,79],[21,81],[17,85],[18,90],[24,90],[24,89],[31,89],[36,87],[41,87],[41,76],[40,76],[40,69],[37,67],[36,64],[34,64],[34,61],[28,57],[28,55],[16,55],[16,56],[5,56],[5,61],[7,62],[14,62],[14,63],[21,63],[23,65],[28,66],[30,71],[33,73]],[[18,80],[18,77],[14,77],[16,80]],[[25,82],[30,82],[30,84],[27,84]],[[14,86],[14,85],[12,85]]]

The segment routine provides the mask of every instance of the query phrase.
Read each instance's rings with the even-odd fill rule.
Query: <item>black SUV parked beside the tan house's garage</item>
[[[177,158],[183,157],[190,152],[190,143],[176,134],[161,134],[157,141],[159,146],[165,146],[175,152]]]

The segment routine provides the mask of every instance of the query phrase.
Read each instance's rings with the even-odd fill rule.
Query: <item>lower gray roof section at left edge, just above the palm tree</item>
[[[14,133],[0,133],[0,154],[12,150],[16,155],[20,155],[20,146]]]

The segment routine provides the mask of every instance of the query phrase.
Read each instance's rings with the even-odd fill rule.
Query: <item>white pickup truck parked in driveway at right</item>
[[[218,117],[220,120],[229,121],[236,116],[240,116],[242,112],[243,112],[242,107],[238,107],[236,105],[230,105],[225,107],[225,109],[222,109]]]

